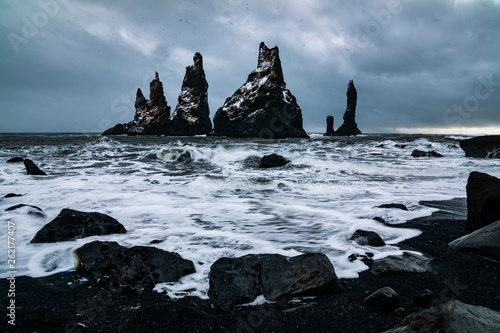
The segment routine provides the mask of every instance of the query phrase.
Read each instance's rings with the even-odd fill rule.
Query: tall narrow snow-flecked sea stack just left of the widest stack
[[[200,135],[212,131],[208,107],[208,83],[200,53],[195,53],[193,62],[194,65],[186,67],[169,135]]]

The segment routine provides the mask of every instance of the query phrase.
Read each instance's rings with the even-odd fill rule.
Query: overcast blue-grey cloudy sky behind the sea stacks
[[[500,1],[0,0],[0,132],[101,132],[204,57],[211,117],[277,45],[308,132],[500,134]]]

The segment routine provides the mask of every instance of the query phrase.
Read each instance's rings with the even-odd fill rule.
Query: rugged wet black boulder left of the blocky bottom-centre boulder
[[[91,282],[115,278],[120,285],[135,289],[150,289],[160,282],[176,282],[196,272],[191,260],[155,247],[126,248],[116,242],[94,241],[73,254],[80,276]]]

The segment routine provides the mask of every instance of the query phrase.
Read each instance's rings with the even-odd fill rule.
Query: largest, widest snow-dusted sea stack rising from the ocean
[[[214,116],[213,135],[258,138],[307,138],[302,111],[286,89],[278,47],[259,46],[257,69],[226,99]]]

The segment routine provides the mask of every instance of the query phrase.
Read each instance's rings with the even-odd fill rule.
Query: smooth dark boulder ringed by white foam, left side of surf
[[[31,243],[54,243],[77,238],[123,234],[125,227],[109,215],[63,209],[57,217],[40,229]]]

